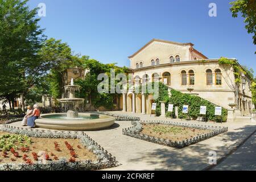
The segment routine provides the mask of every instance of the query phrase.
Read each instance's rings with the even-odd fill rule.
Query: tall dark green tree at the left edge
[[[28,92],[44,70],[38,51],[44,40],[38,9],[28,0],[0,0],[0,97],[14,101]]]

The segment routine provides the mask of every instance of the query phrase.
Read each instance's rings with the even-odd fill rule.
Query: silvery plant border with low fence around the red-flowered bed
[[[117,167],[118,161],[112,154],[104,150],[98,143],[84,133],[84,131],[50,131],[38,129],[23,129],[20,127],[2,125],[0,131],[6,131],[13,134],[27,135],[28,137],[36,138],[72,138],[80,139],[81,143],[97,156],[96,161],[81,160],[79,162],[70,163],[67,159],[60,159],[56,162],[48,164],[0,164],[0,171],[85,171],[85,170],[98,170],[105,168]]]

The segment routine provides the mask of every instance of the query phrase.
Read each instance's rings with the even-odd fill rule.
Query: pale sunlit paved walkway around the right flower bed
[[[139,116],[142,121],[171,120],[170,118],[150,117],[150,115],[125,114]],[[175,121],[228,126],[229,131],[182,149],[122,135],[123,128],[132,126],[131,122],[128,121],[117,121],[110,129],[86,131],[86,134],[96,140],[122,164],[110,170],[202,170],[209,166],[208,156],[210,151],[216,151],[217,158],[222,158],[256,130],[256,123],[252,122],[205,124],[196,121],[180,121],[180,119],[175,119]],[[20,124],[16,122],[11,125],[19,126]]]

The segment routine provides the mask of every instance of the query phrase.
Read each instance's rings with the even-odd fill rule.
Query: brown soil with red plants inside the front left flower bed
[[[10,133],[0,131],[0,137],[6,134]],[[29,137],[29,139],[23,140],[22,144],[18,141],[14,142],[13,146],[6,151],[0,148],[0,163],[36,163],[36,158],[40,158],[41,151],[45,152],[48,162],[61,158],[65,158],[69,162],[97,159],[96,155],[82,146],[80,139]]]

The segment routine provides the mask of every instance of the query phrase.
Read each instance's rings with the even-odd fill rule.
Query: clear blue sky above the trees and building
[[[209,58],[235,57],[256,72],[253,35],[243,18],[232,18],[231,1],[31,0],[28,5],[46,4],[40,25],[48,38],[62,39],[75,53],[102,63],[129,67],[127,56],[157,38],[191,42]],[[211,2],[217,17],[208,15]]]

